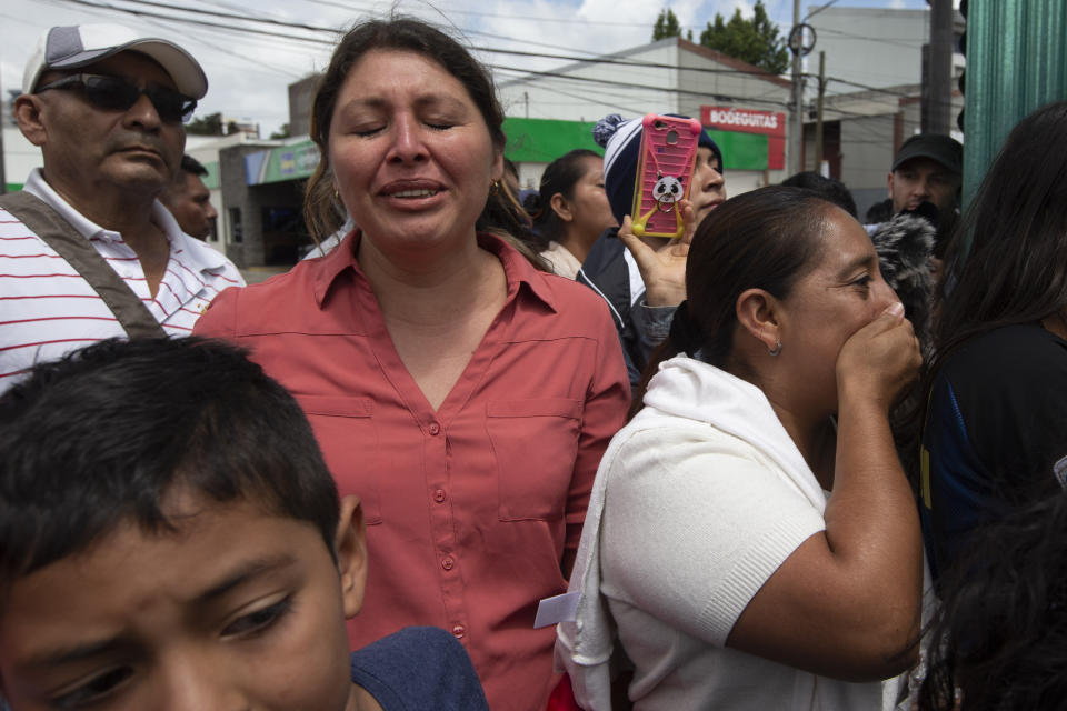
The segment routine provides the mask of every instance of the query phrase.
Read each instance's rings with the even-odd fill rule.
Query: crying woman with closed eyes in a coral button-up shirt
[[[338,249],[231,290],[198,332],[301,402],[373,571],[355,647],[405,625],[467,647],[495,710],[544,709],[551,628],[592,478],[629,402],[606,304],[475,223],[503,168],[485,70],[412,19],[341,40],[312,107],[306,217]]]

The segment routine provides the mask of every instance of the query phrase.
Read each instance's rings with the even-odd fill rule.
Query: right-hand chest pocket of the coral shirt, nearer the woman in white
[[[566,398],[486,405],[501,521],[564,517],[578,454],[581,411],[580,400]]]

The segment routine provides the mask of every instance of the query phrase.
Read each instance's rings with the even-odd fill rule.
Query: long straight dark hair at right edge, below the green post
[[[969,239],[969,246],[968,246]],[[1067,101],[1019,121],[959,222],[945,258],[935,362],[1003,326],[1067,307]]]

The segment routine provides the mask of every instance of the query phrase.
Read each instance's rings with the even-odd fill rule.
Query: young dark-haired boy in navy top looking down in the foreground
[[[443,630],[349,657],[359,501],[241,351],[103,341],[38,365],[0,398],[0,452],[12,711],[487,708]]]

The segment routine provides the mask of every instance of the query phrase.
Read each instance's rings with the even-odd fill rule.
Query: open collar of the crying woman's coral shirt
[[[322,308],[330,288],[343,272],[351,269],[362,276],[359,262],[356,261],[356,250],[359,247],[361,232],[356,229],[346,237],[337,249],[322,258],[319,274],[315,280],[315,300]],[[526,287],[538,300],[552,311],[556,308],[556,293],[549,279],[538,271],[522,254],[503,241],[488,232],[478,233],[478,246],[495,254],[503,264],[505,278],[508,281],[508,298],[518,293],[520,287]]]

